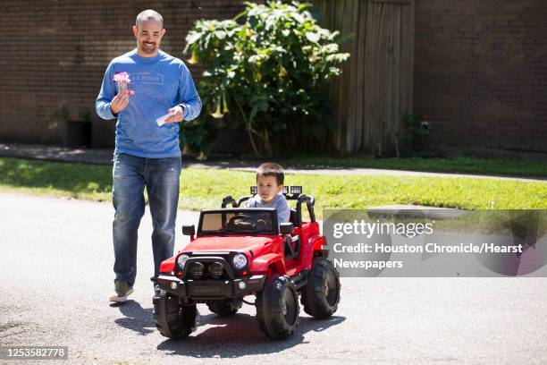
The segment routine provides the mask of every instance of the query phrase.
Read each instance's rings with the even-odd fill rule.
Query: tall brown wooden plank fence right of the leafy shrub
[[[399,152],[401,118],[413,108],[414,1],[312,0],[322,26],[353,34],[330,87],[342,154]]]

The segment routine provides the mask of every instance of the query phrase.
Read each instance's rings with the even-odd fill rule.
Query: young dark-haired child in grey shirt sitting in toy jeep
[[[245,202],[248,208],[275,208],[279,223],[289,222],[290,206],[285,199],[283,191],[282,166],[268,162],[257,168],[258,193]]]

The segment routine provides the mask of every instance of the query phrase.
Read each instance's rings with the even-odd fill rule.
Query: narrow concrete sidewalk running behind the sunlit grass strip
[[[71,149],[66,147],[30,145],[19,143],[0,143],[0,157],[19,157],[46,161],[80,162],[86,164],[112,165],[113,149]],[[228,168],[238,171],[255,171],[257,163],[252,161],[195,161],[185,159],[184,167]],[[544,177],[495,176],[477,174],[443,174],[418,171],[384,170],[375,168],[346,168],[314,166],[283,166],[287,174],[363,174],[363,175],[397,175],[397,176],[432,176],[432,177],[472,177],[477,179],[498,178],[503,180],[547,182]]]

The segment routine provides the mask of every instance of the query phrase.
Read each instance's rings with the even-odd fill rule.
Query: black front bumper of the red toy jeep
[[[220,300],[260,292],[264,288],[265,275],[218,280],[181,280],[177,276],[160,275],[157,278],[157,284],[160,289],[180,298],[195,301]]]

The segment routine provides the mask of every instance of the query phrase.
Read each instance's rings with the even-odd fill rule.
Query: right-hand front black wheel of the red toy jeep
[[[287,276],[272,276],[257,294],[258,327],[272,339],[292,335],[299,327],[299,293]]]

